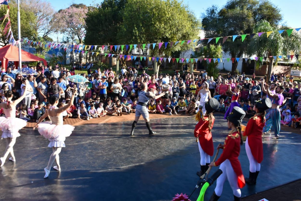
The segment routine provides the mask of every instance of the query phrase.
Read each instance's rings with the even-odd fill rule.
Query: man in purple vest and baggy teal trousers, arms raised
[[[272,107],[268,111],[268,114],[265,115],[265,127],[262,130],[262,135],[266,134],[269,130],[271,130],[271,127],[274,127],[274,133],[275,137],[272,139],[279,139],[279,133],[280,133],[280,120],[281,120],[281,110],[280,107],[282,104],[285,104],[287,99],[282,95],[282,92],[284,91],[284,86],[278,86],[276,88],[276,93],[272,94],[272,92],[268,89],[267,86],[264,86],[264,83],[262,82],[262,90],[263,93],[266,93],[269,98],[272,100]],[[266,87],[266,89],[265,89]]]

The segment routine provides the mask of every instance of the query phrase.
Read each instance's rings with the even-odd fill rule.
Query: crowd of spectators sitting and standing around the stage
[[[123,67],[119,74],[114,74],[112,68],[96,68],[92,70],[91,64],[85,68],[87,73],[81,76],[87,78],[87,83],[73,83],[68,81],[68,76],[75,75],[75,68],[70,70],[64,66],[56,65],[45,67],[38,63],[33,68],[38,75],[23,75],[16,73],[15,66],[8,67],[2,71],[0,82],[1,101],[5,101],[5,90],[12,90],[13,100],[26,93],[23,104],[18,105],[16,115],[24,120],[33,119],[38,121],[50,106],[48,100],[51,96],[57,96],[63,107],[70,101],[73,88],[78,88],[78,93],[74,99],[74,105],[65,113],[66,118],[100,118],[106,115],[123,115],[135,113],[138,94],[141,90],[141,84],[147,84],[148,90],[153,93],[166,93],[160,99],[151,101],[148,105],[149,113],[177,115],[179,112],[187,115],[194,115],[200,105],[199,90],[206,81],[209,84],[211,97],[219,100],[217,111],[225,112],[231,104],[231,94],[228,91],[229,86],[233,90],[235,86],[241,85],[242,90],[239,94],[240,107],[247,113],[247,117],[255,114],[253,105],[255,101],[264,99],[266,94],[262,91],[262,81],[266,77],[256,79],[255,74],[247,77],[244,73],[231,75],[227,77],[219,75],[218,77],[209,77],[206,71],[199,74],[185,73],[185,71],[174,71],[173,74],[150,74],[147,69],[140,66],[135,68],[129,66]],[[80,65],[82,68],[82,65]],[[169,80],[163,82],[164,79]],[[25,80],[28,80],[30,87],[25,92]],[[271,75],[267,83],[270,85],[282,85],[285,88],[284,97],[290,97],[286,105],[282,108],[281,123],[284,126],[298,127],[301,122],[301,83],[293,81],[293,77],[287,79],[284,74]],[[2,111],[0,114],[3,115]],[[49,119],[49,118],[48,118]],[[47,118],[46,118],[47,121]]]

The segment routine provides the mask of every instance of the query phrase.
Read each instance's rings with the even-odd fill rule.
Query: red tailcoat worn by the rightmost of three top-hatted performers
[[[261,163],[263,159],[263,147],[262,147],[262,129],[265,122],[262,122],[262,116],[255,116],[250,118],[244,136],[248,137],[248,144],[250,146],[254,159]]]

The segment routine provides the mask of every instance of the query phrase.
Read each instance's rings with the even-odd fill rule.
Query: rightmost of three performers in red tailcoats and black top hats
[[[246,183],[250,185],[256,184],[256,179],[260,171],[260,163],[263,159],[262,148],[262,129],[265,125],[265,110],[272,107],[270,99],[262,99],[257,101],[253,110],[256,111],[256,115],[250,118],[244,136],[247,136],[246,140],[246,152],[250,162],[249,178],[246,178]]]

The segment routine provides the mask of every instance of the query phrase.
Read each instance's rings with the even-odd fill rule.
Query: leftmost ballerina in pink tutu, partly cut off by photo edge
[[[28,81],[25,83],[25,91],[27,87],[30,86]],[[6,138],[7,146],[4,152],[3,157],[0,158],[2,167],[5,163],[5,160],[8,154],[11,154],[10,161],[15,162],[16,158],[14,155],[13,146],[16,143],[16,138],[20,136],[19,130],[26,126],[27,122],[23,119],[16,118],[16,105],[22,101],[25,97],[26,93],[24,93],[17,100],[12,101],[13,92],[11,90],[7,90],[4,93],[6,101],[0,103],[0,109],[2,108],[5,114],[5,117],[0,117],[0,128],[2,130],[2,138]]]

